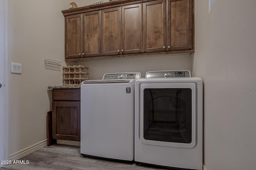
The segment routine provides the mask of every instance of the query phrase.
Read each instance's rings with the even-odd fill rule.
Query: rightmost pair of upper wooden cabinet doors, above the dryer
[[[143,6],[144,51],[193,49],[193,10],[191,8],[193,9],[191,0],[167,0],[167,5],[166,0],[145,2]]]

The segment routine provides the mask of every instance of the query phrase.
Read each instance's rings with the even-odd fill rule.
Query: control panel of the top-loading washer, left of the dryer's
[[[107,73],[104,74],[102,80],[118,80],[118,79],[139,79],[140,73]]]

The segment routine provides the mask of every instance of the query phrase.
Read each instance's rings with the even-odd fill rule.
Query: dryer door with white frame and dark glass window
[[[140,140],[144,144],[196,145],[195,83],[142,83]]]

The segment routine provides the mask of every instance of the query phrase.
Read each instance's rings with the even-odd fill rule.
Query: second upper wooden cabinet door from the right
[[[143,3],[144,51],[166,49],[166,1],[154,0]]]

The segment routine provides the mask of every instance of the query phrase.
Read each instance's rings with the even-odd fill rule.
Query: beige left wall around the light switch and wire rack
[[[64,16],[68,0],[8,0],[9,67],[22,64],[22,74],[9,73],[9,154],[46,139],[46,113],[51,109],[48,85],[62,85],[61,71],[45,69],[44,59],[64,62]],[[10,70],[10,69],[9,69]]]

